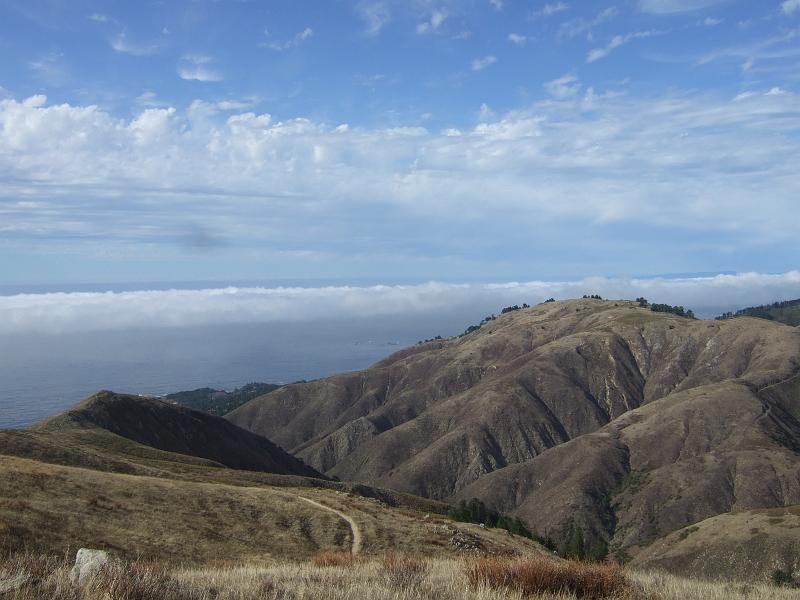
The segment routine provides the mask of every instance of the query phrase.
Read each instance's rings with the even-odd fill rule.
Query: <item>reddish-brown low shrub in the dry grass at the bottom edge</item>
[[[467,564],[473,587],[488,586],[533,594],[574,594],[578,598],[611,598],[625,594],[630,582],[613,564],[553,561],[547,558],[486,557]]]

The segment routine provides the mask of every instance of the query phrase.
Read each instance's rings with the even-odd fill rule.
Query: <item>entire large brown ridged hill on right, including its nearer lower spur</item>
[[[477,497],[562,551],[580,539],[625,561],[695,522],[800,504],[798,374],[796,328],[585,298],[509,311],[227,418],[330,476]]]

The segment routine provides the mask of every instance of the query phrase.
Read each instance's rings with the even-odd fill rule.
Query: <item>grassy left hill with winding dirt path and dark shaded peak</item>
[[[0,431],[0,480],[4,554],[83,546],[160,563],[271,564],[350,551],[356,538],[372,556],[455,556],[462,539],[542,552],[503,530],[454,523],[446,504],[331,481],[218,417],[112,392]]]

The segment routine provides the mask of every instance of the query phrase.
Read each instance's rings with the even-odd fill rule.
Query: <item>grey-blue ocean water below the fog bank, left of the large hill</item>
[[[460,328],[460,329],[459,329]],[[165,394],[290,383],[372,363],[463,317],[316,320],[0,335],[0,428],[25,427],[110,389]]]

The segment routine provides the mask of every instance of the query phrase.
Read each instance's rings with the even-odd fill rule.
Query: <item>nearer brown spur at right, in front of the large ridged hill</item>
[[[741,382],[672,394],[459,492],[618,557],[731,511],[800,503],[800,423]]]

